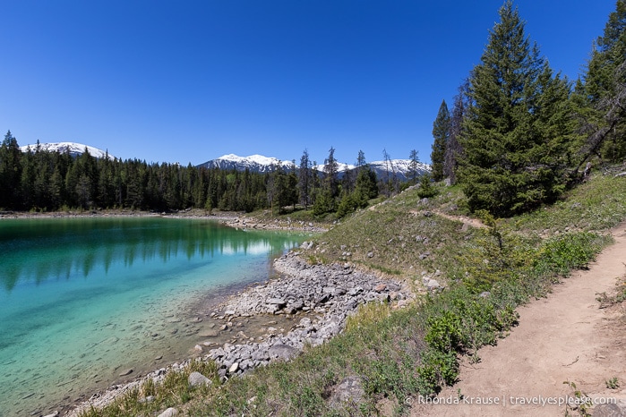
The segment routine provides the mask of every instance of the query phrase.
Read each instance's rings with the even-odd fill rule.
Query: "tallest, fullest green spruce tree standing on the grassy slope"
[[[563,190],[570,84],[553,72],[507,1],[469,79],[459,183],[470,209],[510,216]]]

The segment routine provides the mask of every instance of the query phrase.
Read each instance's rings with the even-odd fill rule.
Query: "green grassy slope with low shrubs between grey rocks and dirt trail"
[[[156,415],[167,406],[190,415],[403,413],[407,396],[454,381],[458,354],[476,355],[505,335],[519,303],[545,294],[609,242],[603,234],[626,218],[626,178],[596,174],[551,207],[480,230],[436,214],[467,215],[464,207],[455,187],[425,204],[407,191],[342,220],[307,252],[312,261],[348,260],[408,282],[440,269],[437,279],[448,285],[442,294],[399,310],[365,306],[330,343],[247,378],[219,385],[214,367],[196,364],[213,387],[192,389],[185,375],[168,377],[176,381],[167,388],[150,386],[89,415]],[[485,289],[490,294],[479,295]],[[364,398],[333,408],[334,389],[351,375],[362,377]],[[137,401],[146,395],[155,400]]]

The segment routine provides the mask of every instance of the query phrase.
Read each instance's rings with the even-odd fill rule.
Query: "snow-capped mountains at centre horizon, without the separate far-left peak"
[[[236,155],[224,155],[217,159],[212,159],[199,165],[199,167],[219,168],[219,169],[236,169],[244,171],[247,168],[254,173],[269,173],[276,169],[276,166],[283,166],[285,169],[291,169],[291,161],[280,161],[276,157],[263,157],[262,155],[251,155],[250,157],[238,157]],[[408,174],[411,172],[410,159],[391,159],[389,163],[385,161],[374,161],[368,164],[376,174],[380,177],[387,175],[396,175],[399,180],[406,181]],[[296,166],[297,168],[298,166]],[[342,176],[344,173],[352,171],[356,166],[338,162],[338,174]],[[313,166],[314,170],[323,172],[324,166]],[[427,164],[419,163],[417,165],[417,175],[430,172],[431,167]]]

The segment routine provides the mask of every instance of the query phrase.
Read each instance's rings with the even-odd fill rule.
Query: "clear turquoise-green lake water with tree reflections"
[[[126,369],[187,357],[189,306],[266,280],[307,237],[203,219],[0,220],[0,416],[51,413]]]

